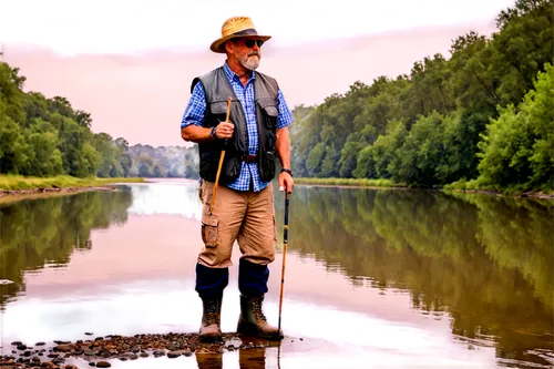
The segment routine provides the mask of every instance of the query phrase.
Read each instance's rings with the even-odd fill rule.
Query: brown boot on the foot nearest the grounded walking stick
[[[261,306],[264,295],[260,297],[247,297],[240,295],[240,314],[238,316],[237,332],[245,336],[254,336],[270,340],[284,338],[283,331],[267,322]]]

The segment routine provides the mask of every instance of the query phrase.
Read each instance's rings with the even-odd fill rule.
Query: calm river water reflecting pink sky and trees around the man
[[[75,340],[85,331],[196,332],[195,202],[192,187],[147,184],[0,204],[0,279],[13,281],[0,285],[3,353],[16,339]],[[551,368],[553,218],[552,202],[297,186],[288,337],[279,350],[226,352],[215,367]],[[273,324],[281,260],[270,266]],[[224,330],[235,330],[238,311],[232,268]],[[201,366],[195,356],[112,365]]]

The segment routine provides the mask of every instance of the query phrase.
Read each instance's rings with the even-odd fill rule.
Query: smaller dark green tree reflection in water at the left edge
[[[65,265],[74,249],[92,248],[92,229],[127,221],[131,189],[85,192],[0,205],[0,311],[25,290],[23,275],[45,264]]]

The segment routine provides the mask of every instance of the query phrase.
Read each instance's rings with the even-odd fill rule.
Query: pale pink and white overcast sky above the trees
[[[38,19],[35,28],[0,19],[0,41],[6,61],[28,78],[27,90],[66,96],[92,113],[94,132],[131,144],[183,144],[178,124],[189,83],[223,62],[208,45],[228,17],[250,16],[259,33],[273,35],[259,70],[277,78],[293,107],[319,104],[356,80],[409,73],[435,52],[449,57],[452,39],[470,30],[490,34],[494,17],[512,3],[410,0],[409,10],[329,10],[318,0],[310,9],[284,1],[117,0],[124,19],[83,19],[86,10],[82,19]],[[157,9],[133,9],[141,4]]]

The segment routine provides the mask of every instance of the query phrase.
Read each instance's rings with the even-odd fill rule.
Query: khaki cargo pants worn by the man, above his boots
[[[202,240],[204,247],[198,263],[211,268],[226,268],[235,240],[243,258],[267,265],[275,259],[277,224],[273,183],[258,193],[217,186],[216,202],[209,215],[214,183],[202,181],[198,197],[202,201]]]

